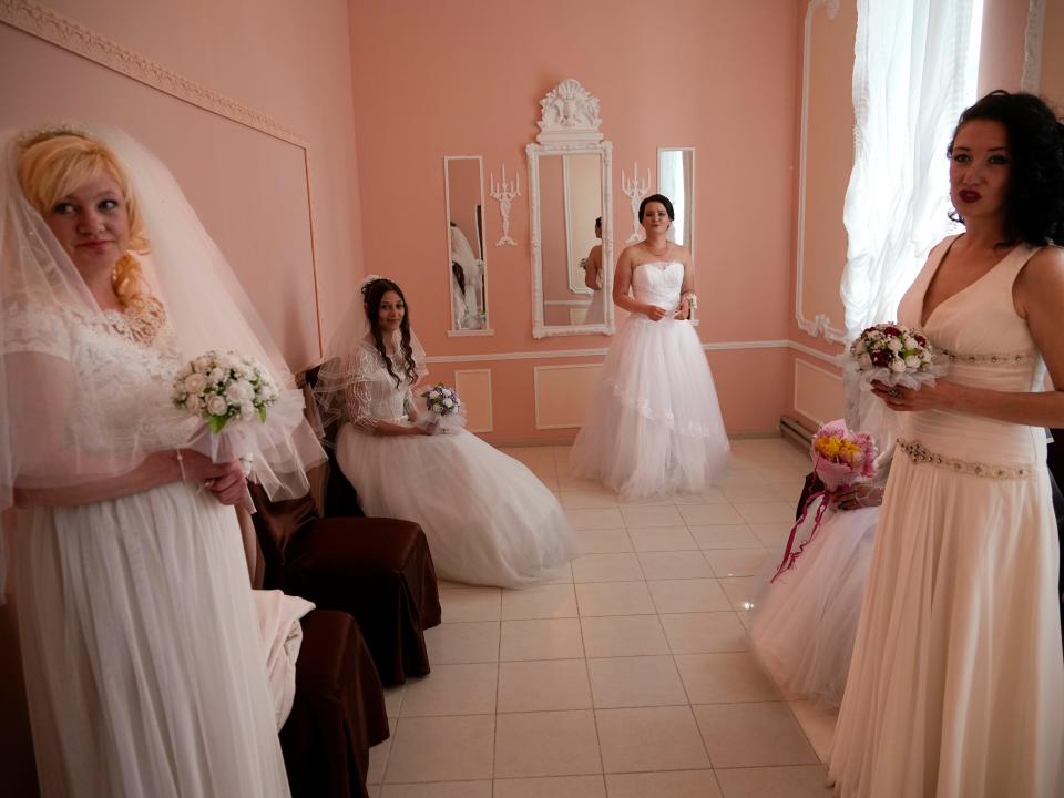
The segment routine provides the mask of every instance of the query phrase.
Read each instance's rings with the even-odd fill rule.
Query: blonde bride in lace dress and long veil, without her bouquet
[[[287,796],[229,507],[244,470],[171,393],[205,340],[290,375],[136,142],[8,134],[2,168],[0,499],[41,792]],[[297,420],[239,453],[293,495],[324,453],[298,391],[280,405]]]

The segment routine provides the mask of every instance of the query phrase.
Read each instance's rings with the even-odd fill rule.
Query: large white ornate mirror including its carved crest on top
[[[526,146],[532,335],[612,335],[613,162],[598,100],[566,80],[540,106],[538,143]]]

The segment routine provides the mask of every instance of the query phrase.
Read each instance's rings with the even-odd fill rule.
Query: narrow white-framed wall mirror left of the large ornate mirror
[[[449,335],[491,335],[484,257],[483,168],[479,155],[443,157],[447,190]]]

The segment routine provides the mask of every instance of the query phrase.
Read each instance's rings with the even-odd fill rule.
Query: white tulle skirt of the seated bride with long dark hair
[[[577,552],[554,494],[463,429],[367,436],[344,424],[336,458],[367,515],[421,524],[443,579],[518,587],[549,577]]]

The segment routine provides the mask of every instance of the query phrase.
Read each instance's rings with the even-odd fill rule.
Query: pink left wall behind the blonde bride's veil
[[[90,13],[55,0],[48,10],[305,140],[265,134],[0,24],[0,70],[34,76],[4,84],[4,124],[84,120],[140,137],[174,172],[289,365],[317,358],[315,280],[329,328],[362,272],[344,1],[197,2],[190,12],[98,0]]]

